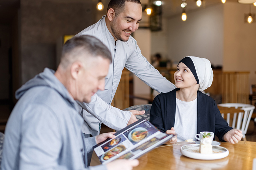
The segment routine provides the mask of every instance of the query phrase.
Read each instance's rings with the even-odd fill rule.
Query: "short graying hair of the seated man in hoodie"
[[[74,61],[79,60],[82,54],[87,54],[92,57],[102,57],[112,63],[111,53],[98,38],[90,35],[74,36],[67,40],[62,47],[60,65],[67,68]]]

